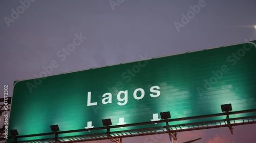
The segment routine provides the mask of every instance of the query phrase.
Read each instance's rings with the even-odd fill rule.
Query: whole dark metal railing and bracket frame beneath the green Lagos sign
[[[11,100],[11,97],[9,97],[8,100]],[[1,101],[2,101],[2,99],[0,99],[0,102]],[[1,113],[2,112],[4,112],[4,111],[1,110]],[[20,135],[20,136],[17,135],[17,136],[12,136],[12,137],[8,137],[8,138],[13,138],[13,142],[20,142],[20,143],[22,143],[22,142],[67,142],[67,143],[70,143],[70,142],[82,142],[82,141],[93,141],[93,140],[104,140],[104,139],[111,139],[114,142],[121,142],[122,138],[125,138],[125,137],[168,133],[169,135],[172,135],[173,138],[176,140],[178,132],[221,128],[221,127],[229,127],[230,132],[232,134],[233,133],[232,126],[256,124],[256,113],[255,113],[255,116],[247,116],[247,117],[240,117],[240,118],[229,118],[229,115],[237,115],[240,113],[248,113],[248,112],[256,112],[256,109],[222,112],[222,113],[215,113],[215,114],[204,115],[204,116],[166,119],[166,120],[160,120],[160,121],[154,121],[154,122],[143,122],[143,123],[116,125],[116,126],[103,126],[103,127],[98,127],[98,128],[92,128],[92,129],[79,129],[79,130],[40,133],[40,134]],[[202,119],[202,118],[218,117],[218,116],[226,116],[226,118],[221,119],[221,120],[210,120],[210,121],[205,121],[205,122],[193,122],[193,123],[189,123],[189,124],[169,125],[169,123],[172,123],[175,121],[186,121],[186,120],[192,120],[192,119]],[[166,126],[157,126],[154,128],[143,128],[143,129],[111,132],[111,129],[113,129],[113,128],[149,125],[149,124],[155,124],[155,123],[166,123]],[[106,132],[105,133],[94,133],[94,134],[58,137],[58,134],[83,132],[83,131],[89,131],[89,130],[102,130],[102,129],[105,129]],[[3,133],[4,133],[4,129],[0,129],[1,136],[3,136]],[[42,139],[36,139],[36,140],[16,141],[18,138],[44,136],[44,135],[55,135],[55,137],[54,138],[42,138]],[[0,140],[5,140],[5,138],[1,137]]]

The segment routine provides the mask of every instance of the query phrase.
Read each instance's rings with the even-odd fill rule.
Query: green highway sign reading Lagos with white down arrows
[[[172,119],[209,115],[227,103],[233,110],[255,109],[255,42],[16,81],[8,129],[29,135],[51,132],[50,125],[60,131],[102,127],[102,119],[152,122],[159,112],[170,111]],[[105,130],[90,133],[98,132]]]

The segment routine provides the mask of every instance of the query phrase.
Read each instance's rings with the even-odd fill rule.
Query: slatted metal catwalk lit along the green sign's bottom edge
[[[256,111],[256,109],[254,109]],[[233,112],[232,112],[233,113]],[[176,120],[176,119],[170,119]],[[256,115],[250,117],[241,117],[241,118],[230,118],[230,124],[232,126],[238,125],[247,125],[247,124],[256,124]],[[168,120],[169,121],[169,120]],[[164,122],[164,121],[163,121]],[[137,125],[145,125],[145,124],[155,124],[155,123],[163,123],[162,121],[155,121],[150,123],[137,123]],[[134,126],[134,124],[126,124],[126,125],[118,125],[118,126],[110,126],[109,128],[120,128],[120,127],[127,127],[127,126]],[[202,130],[202,129],[212,129],[212,128],[221,128],[221,127],[228,127],[227,120],[214,120],[214,121],[206,121],[206,122],[195,122],[195,123],[188,123],[188,124],[179,124],[179,125],[169,125],[169,129],[171,132],[183,132],[183,131],[193,131],[193,130]],[[81,129],[81,130],[73,130],[73,131],[60,131],[60,133],[69,133],[69,132],[79,132],[79,131],[88,131],[88,130],[99,130],[99,129],[106,129],[106,127],[100,128],[93,128],[93,129]],[[36,140],[25,140],[25,141],[17,141],[17,143],[23,142],[66,142],[66,143],[73,143],[73,142],[82,142],[82,141],[93,141],[93,140],[103,140],[103,139],[110,139],[110,136],[113,138],[125,138],[125,137],[134,137],[134,136],[143,136],[143,135],[153,135],[153,134],[161,134],[161,133],[168,133],[166,130],[166,126],[158,126],[154,128],[143,128],[143,129],[134,129],[134,130],[125,130],[125,131],[115,131],[108,133],[95,133],[95,134],[84,134],[84,135],[75,135],[75,136],[66,136],[66,137],[58,137],[58,141],[55,141],[53,138],[44,138],[44,139],[36,139]],[[33,135],[23,135],[17,136],[17,138],[23,137],[32,137],[32,136],[41,136],[41,135],[50,135],[54,133],[42,133],[42,134],[33,134]],[[12,138],[12,137],[8,137]],[[120,140],[119,140],[120,141]]]

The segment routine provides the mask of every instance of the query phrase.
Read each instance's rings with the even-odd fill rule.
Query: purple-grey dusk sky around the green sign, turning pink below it
[[[193,14],[187,16],[189,11]],[[140,55],[154,58],[256,40],[255,0],[5,0],[0,18],[0,93],[8,84],[9,96],[13,81],[38,76],[43,66],[59,60],[57,53],[75,35],[86,38],[50,75],[139,61]],[[178,133],[177,143],[199,137],[195,142],[256,142],[255,124],[233,128],[233,135],[228,127]],[[124,138],[123,143],[169,141],[167,134],[147,137]]]

